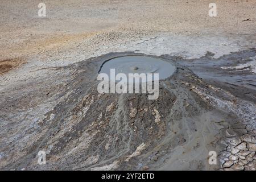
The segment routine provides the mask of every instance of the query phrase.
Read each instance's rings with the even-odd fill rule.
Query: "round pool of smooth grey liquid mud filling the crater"
[[[115,69],[115,74],[125,73],[159,73],[159,80],[170,77],[176,70],[172,63],[149,56],[122,56],[107,60],[102,64],[100,73],[107,73]]]

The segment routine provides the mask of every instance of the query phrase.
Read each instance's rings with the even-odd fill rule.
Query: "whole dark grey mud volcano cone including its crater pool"
[[[51,97],[59,102],[42,119],[34,119],[34,127],[22,130],[29,138],[10,137],[2,143],[5,169],[252,170],[256,166],[256,98],[251,86],[255,75],[230,67],[255,61],[255,52],[251,49],[220,59],[205,55],[197,60],[109,53],[62,67],[55,79],[64,81]],[[221,72],[221,67],[229,67],[230,72]],[[124,73],[159,72],[159,97],[148,100],[142,93],[98,93],[98,72],[110,68]],[[216,76],[231,79],[229,74],[233,74],[237,79],[238,73],[243,80],[248,76],[250,85],[239,85],[236,80],[226,84]],[[43,91],[42,97],[47,98]],[[2,111],[8,115],[8,108],[15,104],[15,100],[4,102]],[[26,117],[30,116],[22,119]],[[15,123],[5,127],[15,129]],[[30,120],[27,125],[32,125]],[[37,164],[39,150],[47,152],[47,165]],[[209,164],[209,151],[216,151],[217,164]]]

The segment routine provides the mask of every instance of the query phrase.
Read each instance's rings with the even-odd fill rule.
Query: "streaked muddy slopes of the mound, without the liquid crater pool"
[[[255,50],[250,53],[255,56]],[[0,168],[255,170],[253,94],[235,97],[175,56],[161,56],[177,70],[159,82],[157,100],[146,94],[98,94],[104,60],[131,54],[49,68],[36,80],[2,90]],[[47,153],[46,165],[37,164],[39,150]],[[208,163],[212,150],[217,165]]]

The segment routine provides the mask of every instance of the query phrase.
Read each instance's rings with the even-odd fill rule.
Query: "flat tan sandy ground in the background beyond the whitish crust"
[[[256,1],[214,1],[215,18],[208,15],[212,1],[44,1],[46,18],[38,17],[39,2],[1,1],[1,60],[50,57],[85,40],[93,42],[83,44],[82,51],[92,53],[112,39],[125,46],[159,32],[228,39],[252,35],[247,40],[255,43]]]

